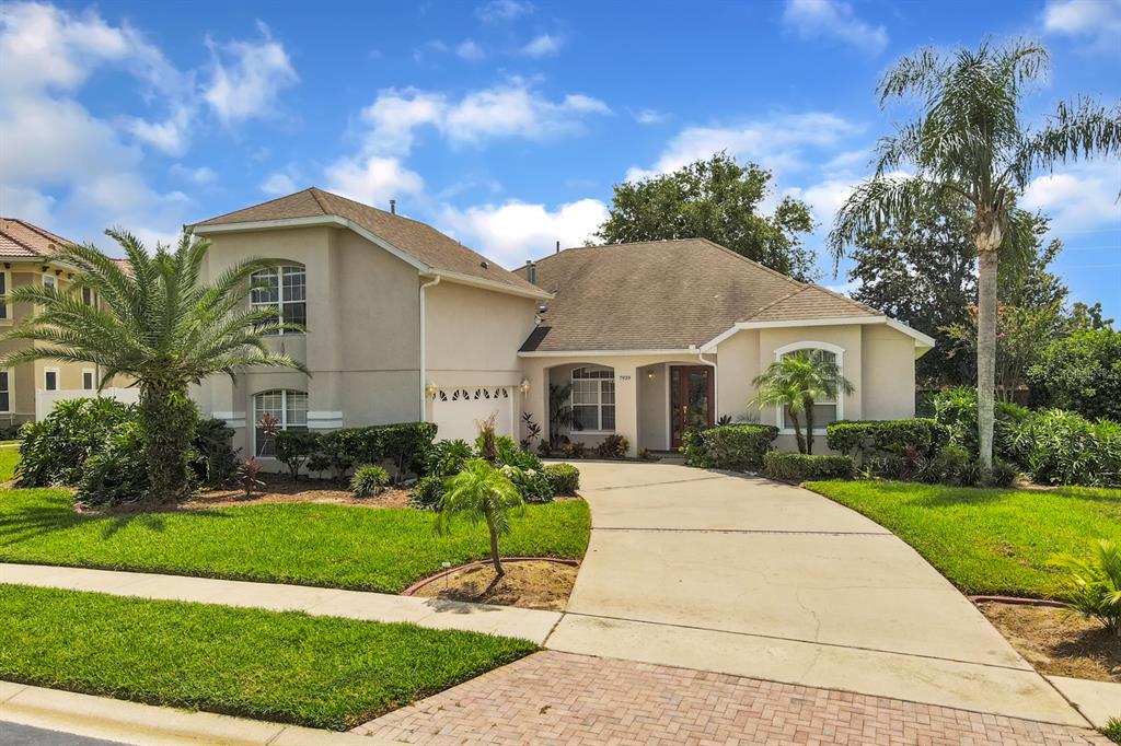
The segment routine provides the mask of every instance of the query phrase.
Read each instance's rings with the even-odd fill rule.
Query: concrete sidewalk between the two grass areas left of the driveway
[[[512,606],[46,565],[0,563],[0,582],[91,590],[114,596],[243,606],[272,612],[306,612],[316,616],[341,616],[369,622],[406,622],[433,630],[463,630],[520,637],[538,645],[545,642],[560,619],[560,614],[557,612],[538,612]]]

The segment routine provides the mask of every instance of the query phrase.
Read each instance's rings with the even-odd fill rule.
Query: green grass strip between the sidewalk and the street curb
[[[471,632],[0,585],[0,679],[336,730],[534,650]]]

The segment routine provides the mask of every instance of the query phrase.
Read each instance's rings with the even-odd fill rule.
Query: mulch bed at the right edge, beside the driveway
[[[1121,637],[1066,609],[981,603],[989,622],[1040,673],[1121,683]]]

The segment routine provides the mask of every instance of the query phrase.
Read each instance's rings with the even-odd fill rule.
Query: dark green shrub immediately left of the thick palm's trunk
[[[123,422],[103,448],[85,459],[77,497],[86,505],[136,502],[148,493],[143,437],[137,421]]]

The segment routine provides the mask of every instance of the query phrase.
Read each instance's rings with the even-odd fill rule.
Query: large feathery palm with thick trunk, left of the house
[[[140,390],[148,497],[176,500],[189,491],[187,450],[197,420],[187,386],[214,373],[233,376],[247,366],[306,373],[303,364],[261,339],[298,327],[277,321],[270,308],[245,307],[250,291],[260,287],[250,276],[271,262],[247,260],[204,282],[209,241],[184,233],[175,251],[157,246],[151,255],[130,233],[105,234],[124,250],[127,268],[93,244],[67,245],[52,261],[76,270],[71,288],[26,285],[8,293],[8,302],[35,304],[36,313],[0,342],[33,345],[0,355],[0,367],[34,360],[93,363],[99,391],[114,376],[132,379]],[[82,288],[99,301],[84,302]]]

